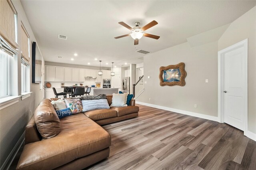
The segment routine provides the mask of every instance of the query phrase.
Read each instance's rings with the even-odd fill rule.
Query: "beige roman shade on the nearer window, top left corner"
[[[19,48],[15,41],[15,14],[17,12],[10,0],[0,0],[0,36],[12,49]]]

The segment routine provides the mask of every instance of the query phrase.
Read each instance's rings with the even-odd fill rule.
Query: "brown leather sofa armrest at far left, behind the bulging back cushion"
[[[42,136],[37,130],[34,116],[28,122],[25,128],[25,144],[37,142],[42,139]]]

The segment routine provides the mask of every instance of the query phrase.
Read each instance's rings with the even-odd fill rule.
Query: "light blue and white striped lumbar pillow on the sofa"
[[[110,109],[107,99],[82,100],[83,112],[94,109]]]

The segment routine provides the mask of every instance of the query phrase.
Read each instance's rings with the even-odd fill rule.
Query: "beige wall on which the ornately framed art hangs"
[[[144,57],[144,81],[147,84],[144,83],[145,91],[136,101],[218,117],[217,53],[218,42],[196,47],[190,47],[186,42],[148,54]],[[186,85],[160,86],[159,68],[180,62],[185,63]],[[205,83],[205,79],[209,83]]]

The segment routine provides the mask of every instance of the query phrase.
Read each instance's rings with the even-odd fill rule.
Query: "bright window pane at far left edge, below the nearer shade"
[[[0,98],[10,96],[10,57],[0,50]]]

